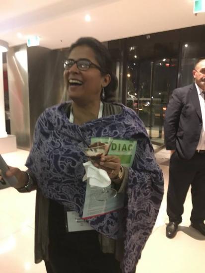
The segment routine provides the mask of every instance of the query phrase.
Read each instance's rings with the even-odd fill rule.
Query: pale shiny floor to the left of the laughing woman
[[[10,166],[25,170],[28,151],[2,154]],[[0,273],[46,273],[44,263],[34,264],[35,192],[0,191]]]

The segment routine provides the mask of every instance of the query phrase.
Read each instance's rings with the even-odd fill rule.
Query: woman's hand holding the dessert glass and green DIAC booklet
[[[121,161],[120,158],[115,155],[102,155],[100,163],[98,164],[94,162],[93,165],[97,168],[105,170],[110,179],[115,179],[119,175]]]

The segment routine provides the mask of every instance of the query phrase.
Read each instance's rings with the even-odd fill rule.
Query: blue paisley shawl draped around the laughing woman
[[[162,201],[163,175],[142,121],[133,110],[121,106],[120,114],[80,126],[69,122],[65,103],[46,109],[36,123],[26,166],[46,198],[82,215],[86,191],[82,163],[87,157],[78,147],[81,136],[88,143],[92,136],[137,139],[125,207],[87,220],[98,232],[113,239],[125,239],[122,269],[124,273],[134,273]]]

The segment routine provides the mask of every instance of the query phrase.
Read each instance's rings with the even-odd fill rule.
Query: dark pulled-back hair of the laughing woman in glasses
[[[108,49],[98,40],[92,37],[82,37],[79,38],[75,43],[73,43],[69,48],[69,53],[78,46],[88,46],[90,47],[94,53],[95,58],[100,68],[102,68],[102,75],[110,74],[111,80],[110,83],[104,87],[105,95],[101,99],[106,102],[114,102],[116,101],[116,89],[118,86],[118,79],[116,75],[112,71],[112,58]]]

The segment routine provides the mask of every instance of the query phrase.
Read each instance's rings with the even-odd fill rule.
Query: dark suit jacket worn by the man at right
[[[177,150],[179,156],[190,159],[199,143],[202,112],[194,84],[174,89],[164,121],[167,150]]]

